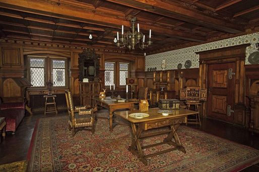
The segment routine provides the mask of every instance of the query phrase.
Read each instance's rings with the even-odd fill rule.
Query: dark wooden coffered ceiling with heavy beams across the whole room
[[[142,33],[152,30],[148,54],[217,41],[259,29],[254,0],[0,0],[2,38],[118,49],[121,25],[137,17]],[[93,39],[89,39],[89,34]],[[124,49],[123,51],[128,51]]]

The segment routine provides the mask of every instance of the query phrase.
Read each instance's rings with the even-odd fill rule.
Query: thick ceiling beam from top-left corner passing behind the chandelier
[[[83,9],[79,9],[78,7],[68,7],[68,6],[57,6],[56,4],[47,4],[40,3],[38,1],[30,1],[28,3],[27,0],[2,0],[0,3],[0,7],[24,11],[27,13],[39,14],[49,17],[55,17],[60,19],[67,19],[72,21],[78,21],[83,23],[91,23],[99,26],[108,26],[112,28],[119,29],[121,25],[124,25],[127,28],[130,28],[130,22],[126,19],[118,19],[114,17],[103,16],[100,14],[96,14],[92,11],[86,11]],[[53,24],[53,22],[52,22]],[[152,30],[153,33],[166,33],[170,37],[175,37],[182,40],[187,41],[195,41],[202,42],[205,41],[203,36],[192,35],[189,33],[183,33],[179,31],[174,31],[168,28],[157,27],[153,25],[145,25],[142,26],[143,30],[149,31]]]

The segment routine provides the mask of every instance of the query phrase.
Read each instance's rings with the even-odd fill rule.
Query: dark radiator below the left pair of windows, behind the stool
[[[37,108],[44,108],[45,107],[45,98],[43,97],[46,94],[32,94],[30,95],[30,103],[29,106],[32,109],[37,109]],[[56,106],[67,106],[66,102],[66,95],[64,93],[60,94],[53,94],[56,95],[55,101],[56,101]]]

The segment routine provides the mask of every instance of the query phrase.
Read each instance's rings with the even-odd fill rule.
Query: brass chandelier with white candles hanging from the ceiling
[[[123,25],[121,27],[121,37],[119,38],[119,32],[117,32],[117,39],[114,38],[114,43],[119,48],[127,47],[128,49],[135,50],[136,44],[139,44],[140,49],[145,49],[146,47],[152,44],[151,41],[151,29],[149,30],[149,41],[145,43],[145,35],[140,32],[140,27],[138,24],[138,31],[136,31],[135,24],[136,24],[136,17],[131,18],[131,29],[132,31],[127,31],[123,33]]]

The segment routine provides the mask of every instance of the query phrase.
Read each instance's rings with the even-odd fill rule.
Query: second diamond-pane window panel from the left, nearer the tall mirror
[[[52,60],[52,79],[54,87],[66,86],[66,61]]]

